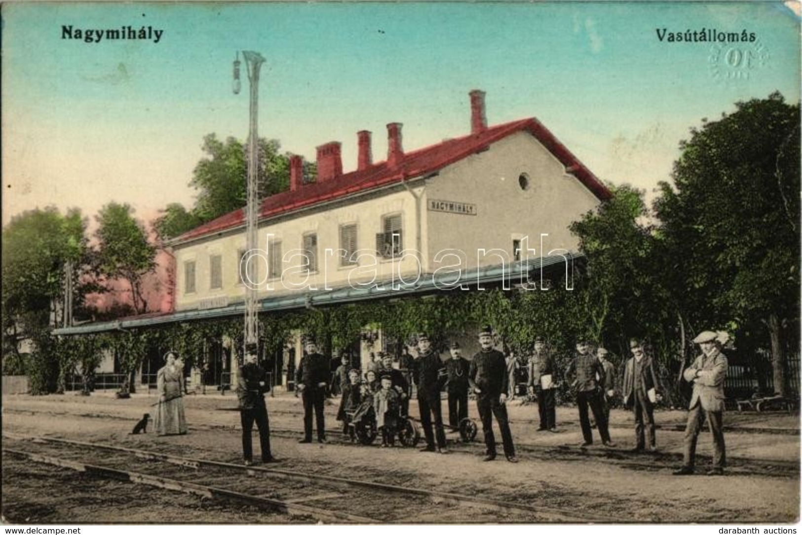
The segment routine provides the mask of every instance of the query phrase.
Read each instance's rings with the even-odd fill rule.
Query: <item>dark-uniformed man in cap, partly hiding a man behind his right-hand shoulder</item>
[[[607,428],[607,420],[602,411],[601,389],[604,388],[605,380],[604,368],[597,356],[590,352],[590,346],[586,340],[577,342],[577,352],[565,372],[566,377],[573,377],[573,384],[577,391],[577,408],[579,409],[579,424],[582,428],[581,443],[582,447],[593,444],[593,433],[590,428],[588,418],[588,405],[596,418],[599,435],[602,436],[602,444],[613,447],[615,444],[610,440],[610,431]],[[600,380],[597,380],[600,377]]]

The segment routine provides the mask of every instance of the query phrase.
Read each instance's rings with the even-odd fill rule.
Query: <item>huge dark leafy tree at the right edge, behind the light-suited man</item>
[[[764,324],[774,388],[785,394],[783,336],[795,336],[800,306],[800,106],[774,93],[735,107],[691,129],[654,209],[682,259],[689,320]]]

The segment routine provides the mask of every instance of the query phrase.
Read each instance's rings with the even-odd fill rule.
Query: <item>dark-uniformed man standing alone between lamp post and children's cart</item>
[[[303,398],[304,437],[302,444],[312,441],[312,409],[318,426],[318,442],[326,442],[326,422],[323,418],[323,405],[326,403],[326,385],[329,384],[329,360],[318,352],[314,337],[307,336],[304,342],[306,355],[298,364],[295,373],[296,384]]]

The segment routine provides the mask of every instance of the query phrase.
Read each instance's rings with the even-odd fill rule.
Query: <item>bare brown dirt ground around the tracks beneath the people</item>
[[[143,412],[150,410],[155,396],[139,394],[117,400],[106,393],[92,396],[3,396],[3,432],[17,432],[72,440],[98,441],[142,449],[158,449],[186,457],[241,462],[238,412],[234,396],[187,396],[186,412],[190,432],[185,436],[159,437],[128,435]],[[576,444],[581,441],[575,408],[557,409],[561,432],[536,432],[537,406],[511,402],[509,415],[514,440],[518,444],[552,446],[535,451],[521,448],[517,465],[499,457],[481,461],[482,448],[460,450],[450,455],[419,453],[416,449],[382,449],[377,445],[346,444],[336,432],[335,404],[326,407],[329,444],[298,444],[298,435],[289,430],[302,428],[300,400],[291,394],[269,398],[273,454],[282,459],[278,467],[307,473],[382,481],[395,485],[438,489],[495,499],[520,501],[531,505],[567,510],[574,521],[594,513],[627,522],[793,522],[799,517],[800,478],[796,475],[755,475],[733,469],[723,477],[674,477],[673,461],[682,452],[684,411],[660,411],[658,422],[659,456],[634,455],[632,415],[613,410],[611,435],[617,442],[615,458],[642,460],[638,466],[609,462],[610,452],[601,444],[586,454]],[[444,408],[446,407],[444,402]],[[413,402],[411,414],[417,414]],[[470,416],[478,422],[476,407]],[[747,460],[762,463],[799,463],[799,416],[784,413],[735,413],[724,416],[727,457],[732,465]],[[499,433],[496,429],[496,437]],[[456,435],[448,435],[456,439]],[[477,440],[481,440],[479,432]],[[597,432],[594,438],[598,440]],[[5,445],[8,440],[3,440]],[[258,449],[258,440],[255,448]],[[560,448],[557,448],[557,447]],[[563,447],[565,446],[565,447]],[[499,444],[500,448],[500,444]],[[566,456],[553,452],[576,453]],[[699,437],[699,471],[709,464],[711,438]],[[257,453],[258,455],[258,453]],[[761,460],[761,461],[756,461]],[[650,468],[649,463],[654,463]],[[278,517],[252,507],[205,501],[180,493],[113,481],[95,481],[47,465],[9,462],[3,456],[2,514],[12,523],[274,523],[308,522],[309,519]],[[59,492],[53,492],[59,489]],[[700,504],[703,504],[700,506]],[[391,501],[377,502],[376,508],[392,507]],[[583,516],[584,515],[584,516]],[[463,521],[538,521],[533,518],[477,517]],[[416,522],[436,522],[436,512]]]

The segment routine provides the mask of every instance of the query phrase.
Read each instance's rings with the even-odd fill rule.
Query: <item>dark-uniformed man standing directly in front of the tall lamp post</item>
[[[245,466],[253,465],[252,432],[253,422],[259,428],[259,444],[261,461],[273,463],[276,459],[270,452],[270,424],[265,405],[265,393],[270,384],[267,372],[257,364],[257,346],[248,344],[245,348],[245,364],[240,368],[237,377],[237,398],[240,402],[240,421],[242,424],[242,457]]]

